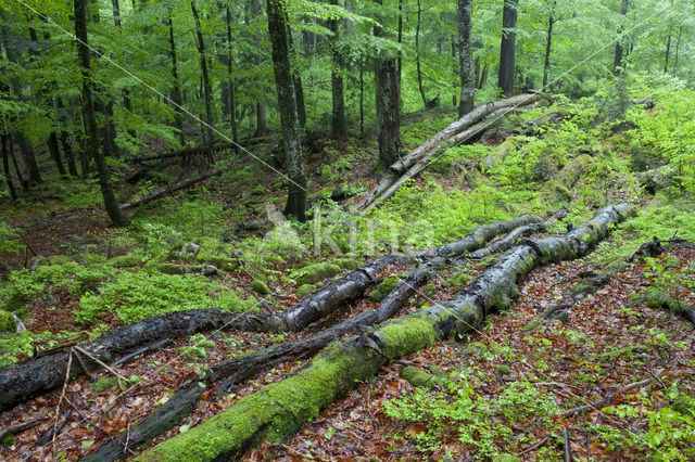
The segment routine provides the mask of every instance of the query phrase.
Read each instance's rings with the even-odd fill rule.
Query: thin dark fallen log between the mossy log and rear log
[[[383,322],[393,317],[399,309],[410,299],[417,288],[432,277],[434,270],[444,265],[447,258],[456,257],[466,252],[470,252],[472,248],[480,247],[500,233],[539,220],[538,217],[527,216],[514,220],[496,221],[479,227],[463,240],[433,249],[410,254],[410,258],[426,258],[427,260],[413,270],[406,279],[402,280],[377,308],[365,310],[325,331],[218,362],[203,371],[201,374],[204,377],[203,381],[210,385],[224,378],[224,382],[217,386],[215,395],[225,395],[236,385],[262,371],[266,371],[282,362],[307,358],[320,351],[331,342],[338,341],[344,334],[359,328]],[[148,441],[151,441],[177,425],[178,422],[173,420],[162,421],[160,415],[180,415],[180,419],[188,415],[188,413],[182,414],[182,411],[179,412],[179,409],[192,409],[200,400],[202,389],[199,389],[198,393],[191,392],[191,389],[195,388],[194,385],[198,382],[200,382],[200,380],[195,378],[191,383],[184,385],[179,392],[174,395],[173,399],[169,399],[157,408],[159,412],[153,412],[142,421],[132,425],[126,434],[121,434],[100,446],[84,460],[115,460],[124,455],[126,441],[129,441],[130,447],[146,446]]]

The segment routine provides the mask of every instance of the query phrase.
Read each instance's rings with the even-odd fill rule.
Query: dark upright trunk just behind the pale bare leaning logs
[[[381,0],[375,0],[381,4]],[[375,26],[376,37],[386,37],[383,29]],[[379,164],[383,171],[400,156],[401,95],[396,60],[379,56],[375,60],[376,106],[379,120]]]

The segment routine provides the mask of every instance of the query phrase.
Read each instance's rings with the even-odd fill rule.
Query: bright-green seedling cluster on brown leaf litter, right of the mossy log
[[[384,401],[383,411],[396,420],[426,423],[425,432],[407,434],[420,451],[437,450],[456,437],[477,459],[500,454],[511,442],[513,425],[538,420],[552,427],[558,407],[532,384],[514,382],[494,399],[476,390],[481,380],[471,372],[440,378],[444,390],[416,388],[413,396]]]

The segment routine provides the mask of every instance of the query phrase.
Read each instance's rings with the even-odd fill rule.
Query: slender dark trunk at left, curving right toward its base
[[[111,222],[116,227],[124,227],[128,223],[125,215],[121,211],[121,207],[116,203],[116,197],[111,188],[111,179],[109,178],[109,169],[103,153],[99,150],[99,129],[97,127],[97,117],[94,115],[94,102],[92,100],[92,80],[91,68],[89,63],[89,46],[87,41],[87,16],[86,0],[75,0],[75,37],[77,38],[77,57],[81,65],[83,74],[83,112],[87,126],[87,143],[91,152],[97,171],[99,174],[99,184],[101,185],[101,194],[104,198],[104,206]]]

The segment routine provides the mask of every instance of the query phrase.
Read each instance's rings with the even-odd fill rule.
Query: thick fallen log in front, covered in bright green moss
[[[389,358],[475,331],[488,312],[518,295],[520,277],[539,265],[586,255],[630,210],[628,204],[606,207],[564,238],[525,241],[507,251],[453,300],[331,344],[296,374],[241,398],[220,414],[156,445],[136,460],[231,460],[264,439],[286,440],[358,382],[375,375]]]

